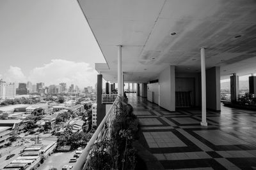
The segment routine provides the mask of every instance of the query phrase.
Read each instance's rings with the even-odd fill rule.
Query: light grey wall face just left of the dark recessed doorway
[[[168,66],[159,74],[159,106],[175,111],[175,66]]]

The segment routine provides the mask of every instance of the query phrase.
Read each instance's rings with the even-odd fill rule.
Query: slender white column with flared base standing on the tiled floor
[[[205,48],[200,48],[201,52],[201,82],[202,82],[202,126],[207,126],[206,122],[206,85],[205,85]]]

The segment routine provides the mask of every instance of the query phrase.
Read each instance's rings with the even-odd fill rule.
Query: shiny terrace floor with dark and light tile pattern
[[[175,112],[127,94],[140,120],[140,143],[164,169],[256,169],[255,111],[221,108],[207,111],[201,127],[200,110]]]

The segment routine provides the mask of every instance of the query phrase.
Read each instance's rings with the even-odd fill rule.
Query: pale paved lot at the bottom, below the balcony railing
[[[75,151],[53,153],[44,161],[44,164],[41,164],[41,166],[37,168],[37,170],[49,170],[52,167],[56,167],[58,170],[61,170],[66,164],[74,166],[75,163],[68,163],[70,158],[73,157],[74,153]]]

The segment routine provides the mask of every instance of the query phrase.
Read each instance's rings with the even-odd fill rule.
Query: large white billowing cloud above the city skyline
[[[28,80],[33,83],[44,82],[45,85],[65,82],[83,88],[95,85],[97,72],[86,62],[54,59],[42,67],[35,67],[29,73]]]

